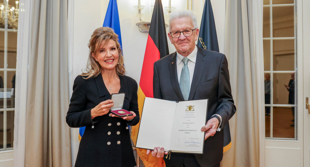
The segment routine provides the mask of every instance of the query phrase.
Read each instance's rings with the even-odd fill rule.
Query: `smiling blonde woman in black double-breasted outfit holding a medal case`
[[[137,82],[125,76],[122,50],[113,29],[96,29],[88,47],[88,67],[74,80],[66,116],[70,127],[86,126],[75,167],[133,167],[136,162],[127,125],[139,122]],[[125,93],[123,109],[132,116],[108,114],[113,93]]]

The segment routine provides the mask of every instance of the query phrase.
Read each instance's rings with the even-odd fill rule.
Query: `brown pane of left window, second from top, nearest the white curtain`
[[[16,68],[17,32],[7,32],[7,68]]]

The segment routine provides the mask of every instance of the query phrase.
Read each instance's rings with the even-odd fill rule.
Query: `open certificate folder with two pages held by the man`
[[[208,99],[168,101],[146,97],[137,137],[137,148],[203,153]]]

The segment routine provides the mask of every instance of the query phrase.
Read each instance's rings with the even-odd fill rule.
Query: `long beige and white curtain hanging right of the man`
[[[264,86],[262,0],[228,0],[225,55],[237,112],[229,121],[232,147],[221,166],[264,164]]]

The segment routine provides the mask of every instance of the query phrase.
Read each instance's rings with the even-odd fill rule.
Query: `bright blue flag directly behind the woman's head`
[[[121,50],[122,50],[121,27],[119,25],[119,16],[118,16],[116,0],[110,0],[107,12],[105,13],[102,27],[110,27],[114,29],[114,32],[118,35],[118,39],[119,39],[118,42],[121,45]],[[85,126],[79,129],[79,140],[81,140],[84,134],[84,131],[85,131]]]

